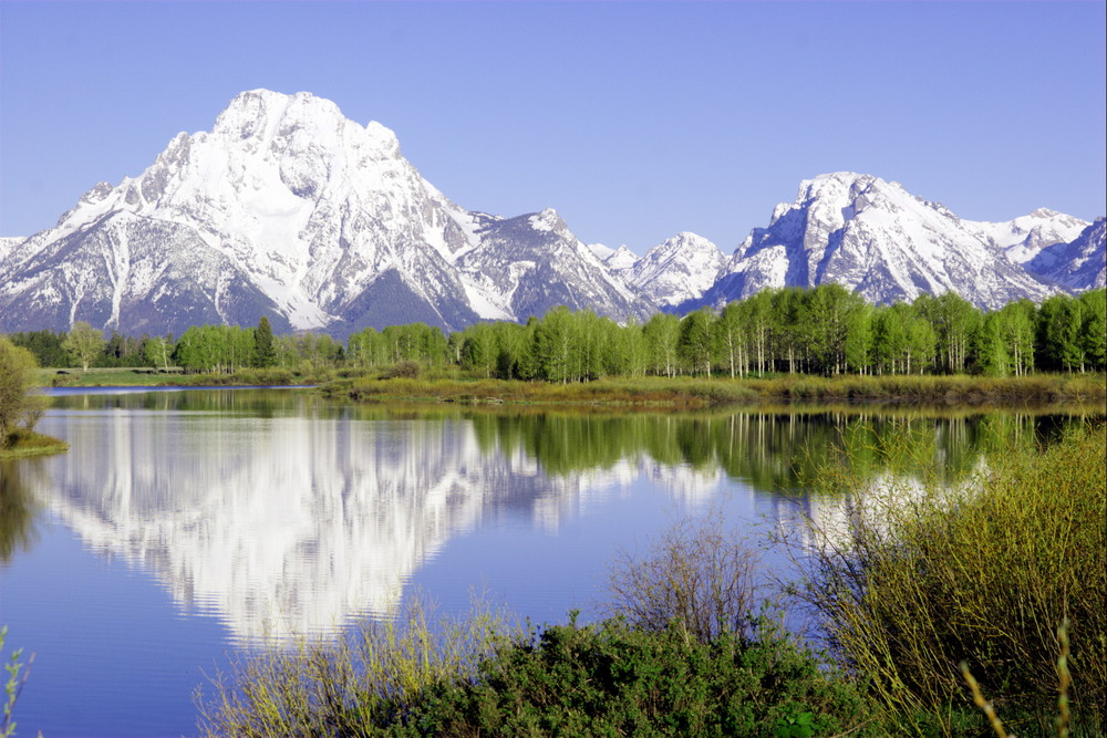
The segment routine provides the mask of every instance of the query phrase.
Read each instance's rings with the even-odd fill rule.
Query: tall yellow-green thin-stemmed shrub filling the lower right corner
[[[1074,731],[1107,729],[1105,450],[1104,426],[1084,427],[956,490],[883,490],[879,514],[853,506],[848,539],[806,559],[801,596],[906,729],[964,729],[964,662],[1015,732],[1053,734],[1066,620]]]

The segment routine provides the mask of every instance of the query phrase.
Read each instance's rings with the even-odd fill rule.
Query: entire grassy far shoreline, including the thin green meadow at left
[[[235,374],[165,374],[132,370],[75,372],[73,382],[56,382],[55,370],[40,374],[42,388],[179,387],[315,387],[332,399],[354,403],[416,402],[464,405],[521,404],[610,407],[702,408],[757,403],[830,402],[857,405],[986,407],[1092,403],[1107,405],[1107,375],[1032,374],[1012,377],[974,375],[840,375],[836,377],[607,377],[554,384],[527,380],[463,377],[377,378],[362,376],[296,376],[287,370]],[[44,381],[45,380],[45,381]]]

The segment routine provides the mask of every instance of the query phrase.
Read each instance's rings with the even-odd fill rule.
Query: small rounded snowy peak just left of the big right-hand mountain
[[[718,279],[726,257],[714,243],[687,231],[650,249],[628,282],[662,308],[699,300]]]

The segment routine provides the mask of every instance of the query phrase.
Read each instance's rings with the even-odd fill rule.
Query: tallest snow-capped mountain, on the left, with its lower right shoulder
[[[268,314],[278,330],[344,334],[526,320],[561,302],[618,320],[652,309],[546,218],[520,227],[462,209],[403,158],[390,129],[356,124],[330,101],[245,92],[211,132],[177,135],[138,177],[97,185],[56,227],[6,249],[0,330],[85,320],[179,333]],[[493,246],[504,232],[544,268],[507,264]],[[485,264],[511,279],[489,280]],[[559,276],[554,287],[537,281]]]

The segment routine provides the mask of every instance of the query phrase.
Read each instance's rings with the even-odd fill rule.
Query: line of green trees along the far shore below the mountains
[[[1107,368],[1107,290],[1056,294],[983,311],[953,293],[872,305],[838,284],[764,290],[679,318],[658,313],[622,325],[555,308],[526,324],[476,323],[449,335],[424,323],[364,329],[342,345],[331,336],[275,336],[256,328],[200,325],[178,339],[68,332],[10,336],[43,366],[247,367],[413,371],[456,367],[470,376],[587,382],[604,376],[788,374],[982,374]]]

